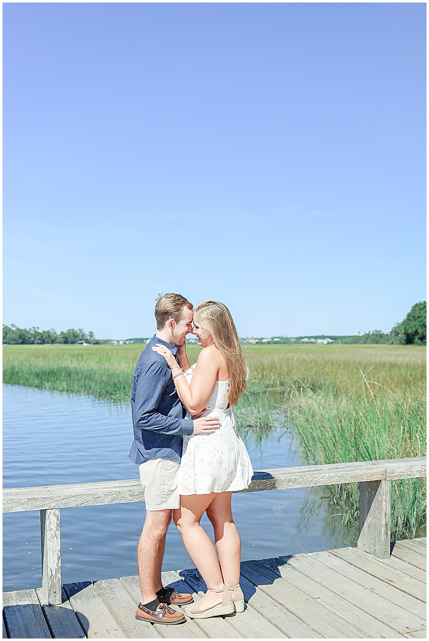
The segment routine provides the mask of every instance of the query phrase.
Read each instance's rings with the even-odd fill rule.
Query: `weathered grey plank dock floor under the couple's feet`
[[[40,589],[5,592],[3,638],[426,638],[426,538],[392,545],[390,558],[346,547],[245,561],[244,613],[177,626],[135,620],[137,576],[63,585],[58,605]],[[163,580],[205,591],[196,569]]]

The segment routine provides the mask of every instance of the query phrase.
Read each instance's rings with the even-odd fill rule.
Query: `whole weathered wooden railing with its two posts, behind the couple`
[[[255,472],[242,492],[358,483],[358,547],[388,558],[391,546],[391,481],[426,476],[426,456],[335,465],[284,467]],[[3,512],[40,510],[42,588],[46,604],[61,603],[60,509],[144,501],[139,479],[3,490]]]

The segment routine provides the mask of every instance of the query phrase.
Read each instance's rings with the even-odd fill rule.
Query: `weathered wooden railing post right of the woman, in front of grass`
[[[362,481],[358,494],[358,547],[387,559],[391,556],[391,481]]]

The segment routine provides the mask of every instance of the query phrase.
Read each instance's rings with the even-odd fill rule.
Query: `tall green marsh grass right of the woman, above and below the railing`
[[[267,409],[273,413],[280,405],[284,410],[308,463],[426,454],[425,348],[329,345],[271,350],[249,353],[250,385],[282,391],[282,403],[271,401]],[[357,485],[328,490],[344,521],[355,529],[356,540]],[[394,481],[392,537],[415,537],[425,523],[425,479]]]

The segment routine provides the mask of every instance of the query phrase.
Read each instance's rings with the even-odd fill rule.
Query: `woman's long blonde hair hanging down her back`
[[[226,361],[230,378],[228,403],[236,405],[244,390],[248,388],[249,368],[230,310],[223,303],[204,301],[196,306],[194,315],[196,314],[201,329],[210,334]]]

